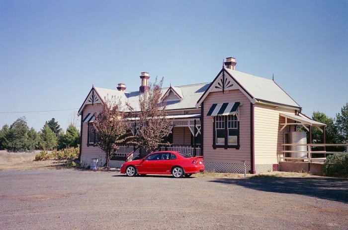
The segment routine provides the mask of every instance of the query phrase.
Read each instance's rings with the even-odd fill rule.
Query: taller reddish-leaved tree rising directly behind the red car
[[[139,113],[128,105],[130,111],[139,118],[139,132],[132,143],[145,148],[147,152],[158,149],[160,145],[170,144],[164,142],[164,137],[171,133],[172,121],[166,118],[166,104],[161,103],[162,84],[163,78],[160,82],[157,82],[156,78],[155,82],[150,84],[150,88],[139,96]]]

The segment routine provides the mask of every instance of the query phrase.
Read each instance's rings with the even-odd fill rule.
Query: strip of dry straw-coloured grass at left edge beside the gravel
[[[34,161],[35,155],[39,151],[31,153],[19,152],[12,153],[0,151],[0,171],[5,170],[56,170],[66,169],[66,161],[47,160]]]

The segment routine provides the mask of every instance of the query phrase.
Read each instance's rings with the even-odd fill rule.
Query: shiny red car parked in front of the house
[[[154,152],[140,160],[125,162],[121,173],[128,176],[137,174],[173,174],[175,178],[204,171],[203,157],[190,157],[174,151]]]

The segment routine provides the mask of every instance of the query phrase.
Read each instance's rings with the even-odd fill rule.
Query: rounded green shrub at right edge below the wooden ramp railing
[[[324,161],[323,173],[327,176],[348,177],[348,153],[328,156]]]

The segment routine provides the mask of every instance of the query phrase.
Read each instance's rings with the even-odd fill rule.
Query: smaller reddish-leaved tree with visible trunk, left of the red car
[[[111,153],[117,149],[117,144],[126,141],[128,125],[123,120],[125,113],[119,99],[105,98],[105,103],[99,115],[95,116],[93,127],[99,137],[98,146],[106,154],[105,168],[109,168]]]

